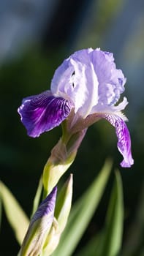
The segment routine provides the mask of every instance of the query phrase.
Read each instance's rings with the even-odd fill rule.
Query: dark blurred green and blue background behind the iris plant
[[[117,67],[127,78],[124,95],[129,105],[125,113],[129,117],[134,166],[119,166],[121,155],[116,148],[115,130],[107,121],[99,121],[88,129],[64,179],[74,173],[75,201],[99,173],[105,159],[113,158],[113,170],[119,168],[124,186],[123,250],[135,256],[144,255],[143,28],[143,0],[0,1],[1,180],[30,216],[39,176],[50,149],[61,136],[61,127],[40,138],[29,138],[17,113],[21,100],[49,89],[56,67],[75,50],[100,47],[113,52]],[[112,181],[113,171],[76,252],[101,230]],[[4,211],[0,236],[0,255],[16,255],[19,246]]]

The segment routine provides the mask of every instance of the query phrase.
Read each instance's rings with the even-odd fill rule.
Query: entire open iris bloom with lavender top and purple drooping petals
[[[56,69],[50,90],[23,99],[18,113],[31,137],[57,127],[70,113],[69,129],[75,130],[105,118],[115,127],[118,150],[124,157],[121,166],[130,167],[134,162],[131,139],[127,118],[121,113],[128,104],[126,97],[119,103],[125,83],[123,72],[116,69],[113,53],[99,48],[78,50]]]

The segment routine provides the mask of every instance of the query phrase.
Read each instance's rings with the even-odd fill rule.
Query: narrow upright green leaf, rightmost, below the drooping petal
[[[121,249],[124,225],[124,202],[121,176],[115,172],[115,183],[107,211],[101,256],[117,256]]]

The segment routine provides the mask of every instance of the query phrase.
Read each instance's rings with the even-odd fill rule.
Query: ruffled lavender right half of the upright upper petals
[[[91,59],[99,81],[99,105],[113,106],[124,92],[126,78],[121,69],[116,69],[113,53],[96,49]]]

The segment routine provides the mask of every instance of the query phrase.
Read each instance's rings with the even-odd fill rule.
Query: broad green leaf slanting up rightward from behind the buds
[[[77,200],[75,206],[73,206],[67,227],[53,256],[69,256],[74,252],[99,204],[110,175],[111,167],[112,163],[110,161],[105,162],[105,166],[102,168],[99,176],[96,177],[91,187],[87,189],[83,196]]]

